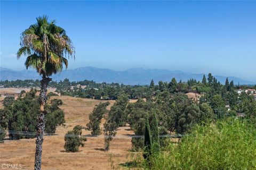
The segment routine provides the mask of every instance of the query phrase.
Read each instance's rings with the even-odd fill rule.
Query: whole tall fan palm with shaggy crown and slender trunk
[[[43,133],[45,127],[44,105],[47,100],[47,86],[52,80],[53,73],[61,72],[63,64],[68,66],[70,56],[75,54],[71,40],[66,31],[55,25],[55,21],[48,21],[47,16],[36,18],[37,23],[30,25],[21,33],[21,48],[17,58],[27,57],[26,68],[33,67],[42,75],[41,91],[39,95],[40,112],[37,120],[35,170],[41,169]],[[74,56],[75,57],[75,56]]]

